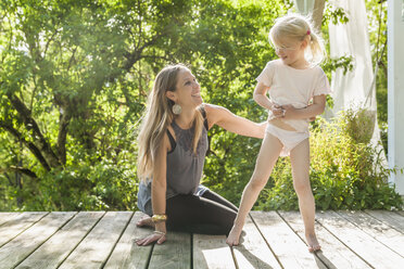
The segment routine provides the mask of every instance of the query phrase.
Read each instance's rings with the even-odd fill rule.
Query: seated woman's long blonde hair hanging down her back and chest
[[[138,176],[142,180],[151,178],[156,169],[154,162],[163,144],[167,127],[174,120],[174,102],[166,97],[166,92],[176,91],[178,74],[181,71],[189,71],[189,68],[184,64],[164,67],[155,77],[152,91],[149,93],[138,136]],[[201,107],[199,108],[201,110]],[[195,113],[192,124],[194,128],[192,141],[194,153],[197,153],[203,128],[203,116],[200,110]]]

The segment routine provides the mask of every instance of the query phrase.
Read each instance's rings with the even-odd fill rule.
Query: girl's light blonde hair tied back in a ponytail
[[[310,18],[299,14],[288,14],[275,21],[275,25],[269,30],[269,41],[275,47],[281,47],[283,38],[295,39],[296,41],[307,40],[310,44],[311,57],[307,61],[319,64],[325,57],[324,41],[315,33]]]

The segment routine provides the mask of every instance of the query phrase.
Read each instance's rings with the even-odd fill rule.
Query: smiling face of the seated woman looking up
[[[181,69],[177,76],[174,102],[182,107],[197,107],[202,104],[201,87],[189,69]]]

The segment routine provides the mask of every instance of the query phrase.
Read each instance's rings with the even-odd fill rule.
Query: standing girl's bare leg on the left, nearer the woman
[[[244,226],[247,215],[253,207],[261,190],[268,181],[282,146],[283,145],[280,143],[278,138],[268,132],[265,134],[258,156],[256,158],[254,172],[242,193],[240,208],[235,220],[235,226],[226,240],[228,245],[232,246],[239,244],[240,234],[242,232],[242,227]]]

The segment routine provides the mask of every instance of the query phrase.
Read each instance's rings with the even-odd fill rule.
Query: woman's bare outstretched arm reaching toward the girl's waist
[[[207,117],[209,128],[213,125],[218,125],[222,128],[235,132],[237,134],[252,137],[252,138],[264,138],[266,121],[257,124],[247,118],[239,117],[231,113],[229,110],[213,105],[204,104]]]

